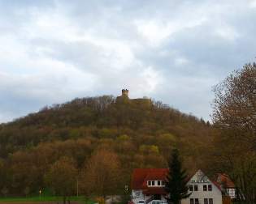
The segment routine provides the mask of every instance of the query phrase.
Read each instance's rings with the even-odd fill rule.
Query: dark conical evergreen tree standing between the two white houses
[[[183,198],[188,198],[191,193],[188,193],[187,172],[182,168],[180,161],[180,153],[177,149],[171,152],[169,161],[169,172],[166,178],[165,190],[169,194],[167,197],[168,203],[179,204]]]

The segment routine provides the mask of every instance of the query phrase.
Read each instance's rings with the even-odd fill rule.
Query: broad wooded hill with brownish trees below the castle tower
[[[205,121],[154,100],[126,95],[75,99],[0,125],[0,176],[6,178],[0,189],[8,186],[20,194],[28,186],[35,192],[63,155],[80,169],[99,148],[118,155],[126,183],[132,168],[165,167],[173,147],[180,148],[192,172],[206,168],[213,134]]]

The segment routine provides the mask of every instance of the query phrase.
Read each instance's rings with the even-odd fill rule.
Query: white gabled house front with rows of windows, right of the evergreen
[[[189,180],[188,186],[191,195],[181,204],[222,204],[221,190],[201,170]]]

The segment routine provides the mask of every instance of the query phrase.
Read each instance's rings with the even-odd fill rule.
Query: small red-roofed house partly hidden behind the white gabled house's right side
[[[221,189],[225,195],[228,195],[231,199],[236,198],[236,185],[227,174],[218,173],[216,176],[216,181],[221,186]]]

